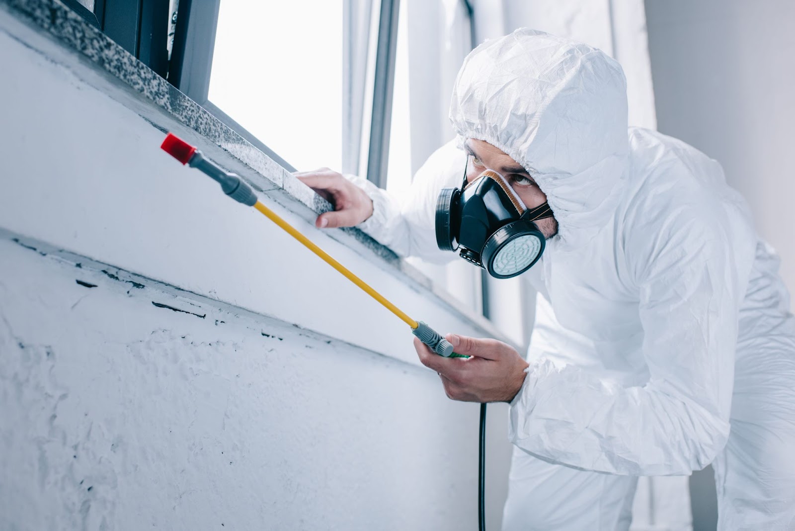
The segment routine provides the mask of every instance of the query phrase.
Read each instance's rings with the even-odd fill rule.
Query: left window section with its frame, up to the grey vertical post
[[[176,87],[287,169],[359,172],[372,0],[180,0],[177,20]]]

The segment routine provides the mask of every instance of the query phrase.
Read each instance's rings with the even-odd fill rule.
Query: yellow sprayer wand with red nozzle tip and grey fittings
[[[454,358],[469,357],[453,353],[452,344],[450,344],[447,339],[444,339],[438,332],[430,328],[422,321],[413,320],[411,317],[406,315],[405,312],[403,312],[400,308],[397,308],[397,306],[387,300],[386,297],[384,297],[381,293],[375,291],[365,281],[352,273],[350,269],[347,269],[347,267],[337,262],[330,254],[320,249],[319,246],[316,246],[312,240],[304,236],[304,234],[301,234],[301,232],[297,231],[295,227],[287,223],[284,219],[277,215],[276,212],[272,211],[270,208],[259,202],[257,200],[257,196],[254,194],[254,191],[248,184],[244,183],[239,176],[235,175],[234,173],[225,172],[218,165],[215,165],[215,163],[207,160],[207,158],[205,158],[204,155],[198,149],[196,149],[196,147],[176,137],[174,134],[169,133],[168,136],[166,136],[161,148],[164,149],[166,153],[169,153],[169,155],[176,158],[177,161],[180,161],[182,164],[187,164],[192,168],[200,169],[208,176],[211,176],[212,179],[221,185],[221,189],[225,194],[227,194],[227,196],[230,196],[239,203],[243,203],[249,207],[254,207],[258,211],[262,212],[262,214],[266,215],[266,217],[273,221],[273,223],[276,223],[285,232],[304,244],[308,250],[311,250],[314,254],[322,258],[329,266],[332,266],[334,269],[339,271],[339,273],[342,273],[343,276],[349,281],[359,286],[359,288],[370,295],[370,297],[378,300],[378,302],[383,304],[386,309],[398,316],[405,324],[408,324],[412,329],[412,333],[416,335],[422,341],[422,343],[428,345],[428,347],[430,347],[432,351],[436,352],[436,354]]]

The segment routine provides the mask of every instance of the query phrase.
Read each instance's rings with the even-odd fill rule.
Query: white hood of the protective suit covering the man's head
[[[463,138],[508,153],[537,180],[572,244],[611,215],[626,167],[626,79],[588,45],[532,29],[487,41],[464,60],[450,104]]]

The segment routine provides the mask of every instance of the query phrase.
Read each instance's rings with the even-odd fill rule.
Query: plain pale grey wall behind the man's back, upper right
[[[723,165],[795,290],[795,2],[650,0],[662,133]]]

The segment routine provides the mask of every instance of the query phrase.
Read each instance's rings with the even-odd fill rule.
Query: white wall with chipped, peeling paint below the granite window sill
[[[493,330],[6,6],[0,64],[0,529],[475,526],[478,406],[444,397],[405,324],[161,152],[162,130],[409,314]]]

